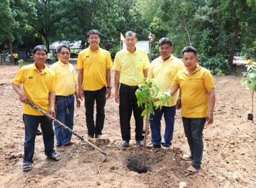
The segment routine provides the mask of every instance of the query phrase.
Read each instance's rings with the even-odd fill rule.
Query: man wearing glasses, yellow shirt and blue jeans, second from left
[[[77,107],[80,107],[80,101],[75,82],[77,77],[73,65],[68,62],[70,58],[70,48],[61,45],[57,48],[59,61],[51,66],[55,73],[56,85],[56,119],[73,130],[73,115],[75,99]],[[54,122],[57,151],[64,151],[64,146],[69,146],[75,142],[71,141],[72,133],[65,130],[62,126]]]

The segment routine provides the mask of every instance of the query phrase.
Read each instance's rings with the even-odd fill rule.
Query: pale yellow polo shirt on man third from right
[[[150,61],[145,50],[136,47],[134,54],[127,49],[117,52],[114,60],[114,68],[121,71],[120,83],[137,86],[143,83],[143,69],[148,68]]]

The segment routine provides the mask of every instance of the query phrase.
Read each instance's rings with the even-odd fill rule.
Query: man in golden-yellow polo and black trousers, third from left
[[[90,30],[87,34],[90,46],[79,52],[77,58],[78,95],[84,98],[88,138],[102,138],[106,99],[111,95],[110,68],[112,61],[108,51],[100,48],[100,32]],[[96,101],[96,124],[94,126],[94,102]]]

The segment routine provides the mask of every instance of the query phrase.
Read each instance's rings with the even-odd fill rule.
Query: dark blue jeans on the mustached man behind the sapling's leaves
[[[165,120],[165,132],[164,132],[164,140],[162,142],[163,146],[171,146],[172,145],[172,137],[174,130],[174,116],[176,114],[176,105],[168,107],[162,106],[162,109],[158,107],[155,109],[153,107],[155,115],[150,113],[150,128],[152,132],[152,140],[151,142],[156,145],[160,145],[161,138],[161,120],[162,114],[164,113]]]

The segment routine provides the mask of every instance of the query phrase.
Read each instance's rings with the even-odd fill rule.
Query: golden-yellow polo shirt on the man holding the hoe
[[[44,65],[44,70],[39,73],[35,64],[20,68],[13,79],[15,85],[22,85],[28,101],[49,113],[49,92],[55,91],[55,75]],[[23,104],[23,113],[28,115],[43,115],[28,104]]]

